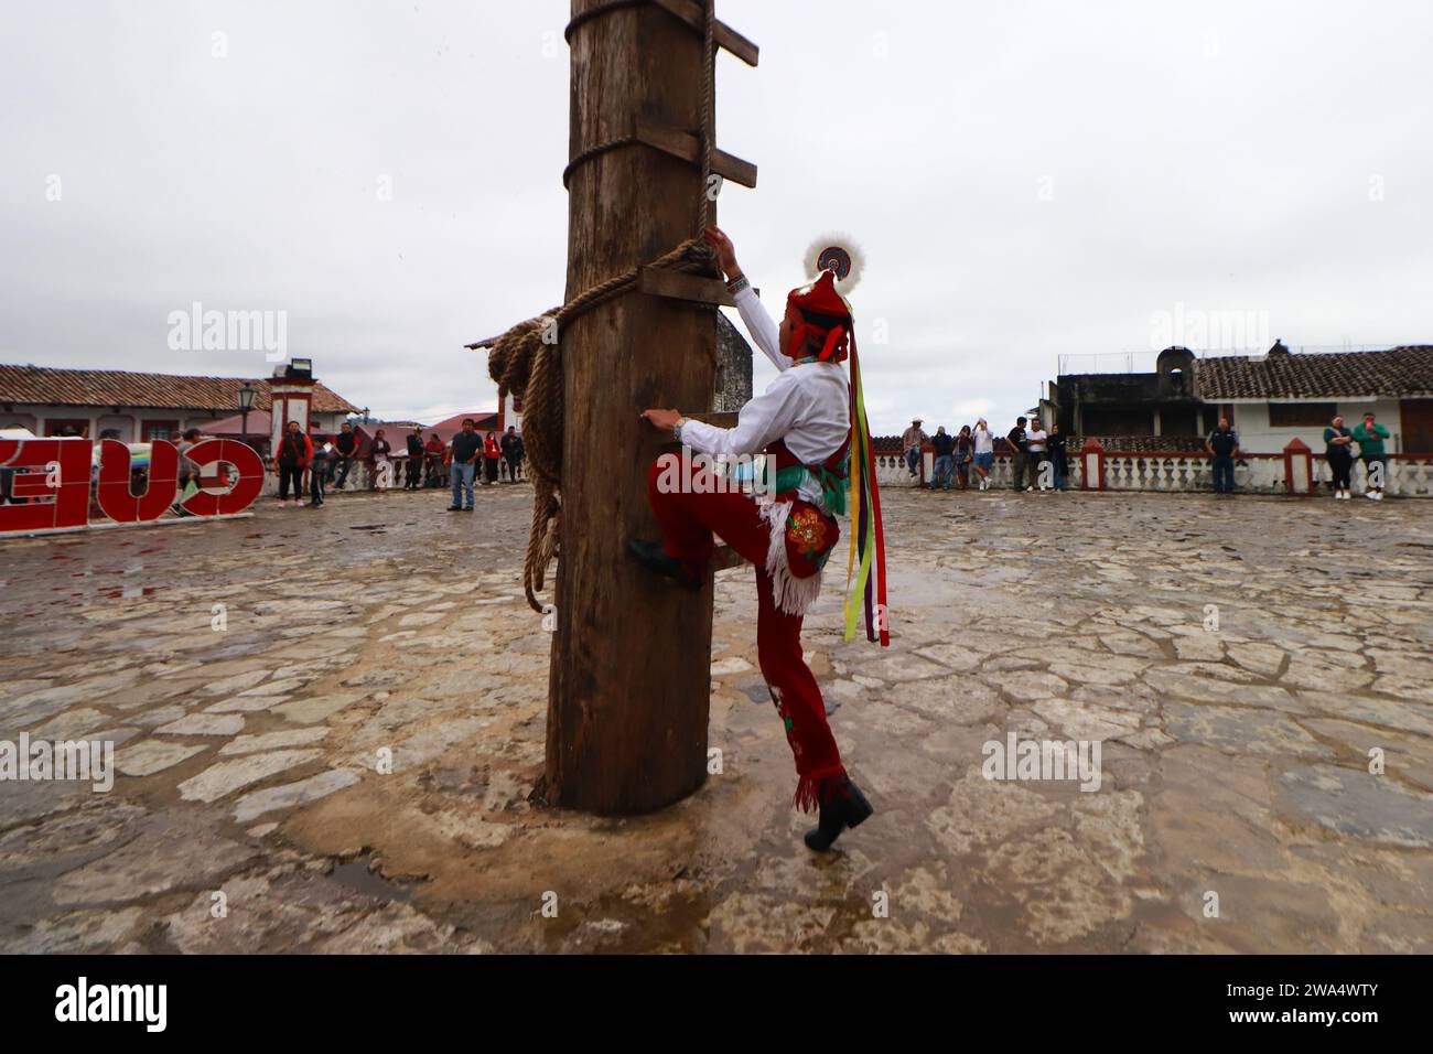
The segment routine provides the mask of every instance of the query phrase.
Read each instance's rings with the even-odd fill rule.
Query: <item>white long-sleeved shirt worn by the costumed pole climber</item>
[[[737,310],[747,333],[781,374],[767,390],[741,407],[737,427],[718,429],[689,420],[682,442],[696,453],[754,455],[784,439],[787,449],[805,465],[820,465],[835,453],[851,430],[850,389],[838,363],[794,363],[781,354],[777,324],[749,288],[737,294]],[[797,493],[824,506],[821,486],[810,475]]]

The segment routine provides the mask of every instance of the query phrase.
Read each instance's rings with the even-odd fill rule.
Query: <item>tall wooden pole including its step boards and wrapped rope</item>
[[[623,545],[655,528],[646,466],[672,446],[641,410],[712,399],[712,305],[732,301],[692,239],[721,178],[755,181],[712,143],[712,76],[715,47],[751,65],[757,49],[709,3],[573,0],[567,304],[470,346],[492,347],[500,387],[526,396],[530,599],[560,490],[543,796],[596,813],[659,809],[706,776],[711,585],[675,595]],[[543,450],[557,429],[560,452]]]

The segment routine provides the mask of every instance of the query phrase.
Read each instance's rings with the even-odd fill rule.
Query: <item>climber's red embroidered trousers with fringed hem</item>
[[[663,455],[665,456],[665,455]],[[662,526],[666,555],[694,568],[705,568],[712,555],[712,535],[757,568],[757,655],[772,703],[787,730],[797,763],[795,804],[810,812],[845,779],[841,751],[825,720],[825,701],[801,652],[801,615],[788,615],[772,601],[767,574],[771,528],[757,503],[742,493],[715,493],[718,483],[708,469],[694,469],[692,488],[661,492],[659,465],[648,475],[648,496]],[[704,478],[699,482],[699,478]],[[705,486],[704,486],[705,483]],[[708,493],[696,493],[705,489]]]

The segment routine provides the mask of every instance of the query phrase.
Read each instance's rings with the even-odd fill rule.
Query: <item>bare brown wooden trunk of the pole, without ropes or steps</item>
[[[573,0],[572,13],[602,6]],[[666,6],[613,6],[576,24],[569,43],[570,156],[631,136],[639,118],[699,130],[702,62],[712,56]],[[696,234],[701,192],[699,165],[641,143],[576,165],[567,300]],[[659,536],[646,472],[675,449],[638,414],[709,407],[715,308],[632,293],[557,340],[566,413],[545,796],[642,813],[706,776],[712,597],[711,587],[694,594],[655,579],[625,555],[628,538]]]

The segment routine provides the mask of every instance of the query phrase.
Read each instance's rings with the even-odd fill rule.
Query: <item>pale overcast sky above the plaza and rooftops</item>
[[[562,300],[567,10],[7,6],[0,363],[272,370],[171,348],[198,301],[287,313],[289,354],[378,416],[496,406],[461,344]],[[1433,343],[1427,0],[718,16],[761,46],[718,62],[718,143],[759,166],[722,225],[778,295],[821,231],[861,244],[877,433],[1003,424],[1060,354],[1201,344],[1204,321]]]

